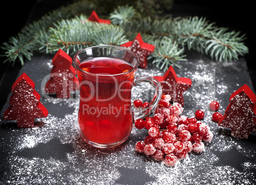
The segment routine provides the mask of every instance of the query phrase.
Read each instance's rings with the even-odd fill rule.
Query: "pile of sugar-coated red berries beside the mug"
[[[135,121],[137,129],[148,130],[148,136],[135,144],[135,150],[174,166],[188,153],[204,151],[204,142],[210,143],[213,133],[208,125],[199,121],[204,117],[203,111],[197,111],[196,118],[188,118],[181,115],[183,107],[170,100],[169,95],[162,95],[153,117]]]

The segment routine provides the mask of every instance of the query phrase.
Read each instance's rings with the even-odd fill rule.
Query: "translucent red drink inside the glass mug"
[[[80,64],[78,123],[85,140],[98,144],[126,140],[132,130],[131,87],[135,71],[129,63],[94,58]]]

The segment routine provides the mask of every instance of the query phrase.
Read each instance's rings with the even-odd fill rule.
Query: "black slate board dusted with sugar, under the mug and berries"
[[[178,77],[188,77],[192,87],[184,93],[182,115],[194,117],[197,109],[204,110],[203,122],[210,126],[213,141],[201,154],[190,153],[176,167],[167,167],[134,150],[143,140],[146,130],[133,129],[129,139],[110,150],[99,150],[85,144],[78,135],[76,120],[78,92],[71,99],[46,99],[42,84],[50,74],[53,56],[34,56],[21,68],[36,84],[41,103],[49,115],[36,119],[34,128],[18,129],[15,122],[0,125],[1,172],[0,184],[253,184],[255,182],[256,134],[248,139],[230,136],[211,121],[213,111],[208,105],[213,99],[220,103],[222,114],[229,96],[243,84],[252,90],[246,61],[217,63],[208,56],[187,51],[183,68],[174,68]],[[149,63],[138,69],[137,76],[163,75]],[[17,76],[17,77],[18,77]],[[6,89],[6,91],[8,91]],[[9,90],[10,91],[10,90]],[[134,87],[132,98],[145,97],[141,88]],[[253,90],[253,92],[255,92]],[[8,96],[10,98],[11,93]],[[8,107],[8,99],[1,110]]]

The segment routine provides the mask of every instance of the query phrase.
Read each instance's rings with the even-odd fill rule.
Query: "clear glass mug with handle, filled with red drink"
[[[73,65],[80,83],[78,131],[97,148],[111,148],[130,136],[134,120],[155,110],[162,89],[153,77],[134,79],[139,58],[118,46],[93,46],[75,54]],[[148,82],[155,89],[148,108],[132,111],[131,89]]]

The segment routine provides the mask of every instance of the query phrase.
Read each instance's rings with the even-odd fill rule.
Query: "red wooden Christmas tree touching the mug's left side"
[[[72,66],[72,58],[59,49],[52,59],[53,68],[50,79],[45,85],[45,92],[57,94],[57,98],[70,98],[70,91],[79,88],[75,68]]]

